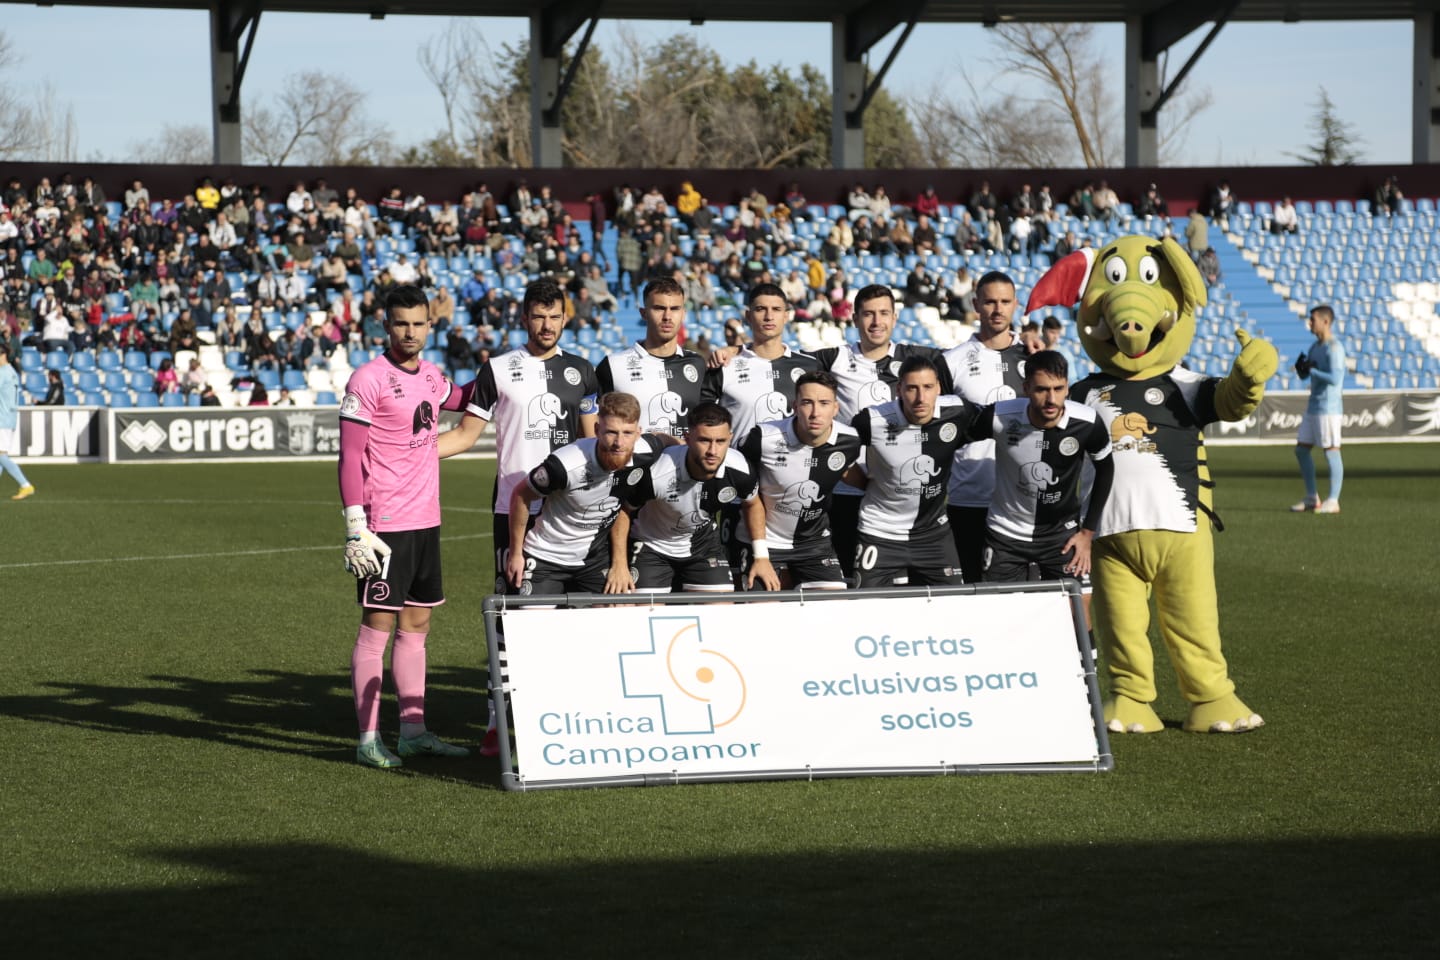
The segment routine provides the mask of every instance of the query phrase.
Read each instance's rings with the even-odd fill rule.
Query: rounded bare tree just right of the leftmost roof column
[[[389,131],[364,111],[364,92],[344,76],[307,71],[285,78],[269,104],[246,111],[245,151],[272,167],[380,164]]]

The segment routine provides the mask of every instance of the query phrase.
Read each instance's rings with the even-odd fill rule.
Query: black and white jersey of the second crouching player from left
[[[671,446],[648,468],[621,471],[619,497],[639,512],[631,541],[667,557],[721,557],[716,515],[726,504],[755,497],[755,475],[734,449],[726,450],[714,476],[697,481],[685,466],[685,446]]]

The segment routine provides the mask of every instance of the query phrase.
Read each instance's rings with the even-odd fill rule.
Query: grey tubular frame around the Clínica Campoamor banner
[[[1074,652],[1076,652],[1076,678],[1083,676],[1086,695],[1089,698],[1089,720],[1090,728],[1094,735],[1094,754],[1090,760],[1084,761],[1017,761],[1017,763],[979,763],[979,764],[956,764],[956,763],[933,763],[933,764],[913,764],[913,763],[899,763],[894,766],[785,766],[779,769],[746,769],[746,770],[706,770],[706,771],[680,771],[671,770],[670,773],[635,773],[635,774],[613,774],[608,773],[605,776],[579,776],[579,777],[564,777],[564,779],[544,779],[540,780],[531,774],[527,779],[523,769],[523,763],[517,761],[517,756],[536,756],[528,753],[530,746],[527,743],[517,743],[516,750],[511,750],[511,727],[514,718],[511,715],[511,698],[514,695],[524,697],[524,691],[516,687],[514,678],[511,678],[510,687],[507,688],[501,681],[501,651],[500,642],[504,630],[504,616],[507,612],[518,612],[527,609],[541,609],[541,610],[588,610],[600,607],[616,607],[622,606],[626,609],[644,607],[645,610],[664,610],[667,607],[696,607],[696,606],[716,606],[716,604],[753,604],[765,603],[773,604],[815,604],[815,603],[844,603],[847,600],[887,600],[887,599],[936,599],[936,597],[963,597],[963,596],[991,596],[991,594],[1061,594],[1067,599],[1070,607],[1070,619],[1074,626]],[[500,764],[501,764],[501,783],[507,790],[550,790],[550,789],[577,789],[577,787],[612,787],[612,786],[667,786],[680,783],[713,783],[713,782],[737,782],[737,780],[818,780],[831,777],[860,777],[860,776],[960,776],[960,774],[979,774],[979,773],[1107,773],[1115,767],[1115,760],[1110,753],[1109,735],[1106,731],[1099,681],[1096,675],[1096,665],[1090,651],[1089,633],[1084,629],[1084,609],[1080,596],[1080,584],[1074,580],[1058,580],[1058,581],[1040,581],[1040,583],[985,583],[985,584],[966,584],[955,587],[900,587],[900,589],[884,589],[884,590],[785,590],[776,593],[723,593],[723,594],[697,594],[697,593],[668,593],[668,594],[625,594],[625,596],[603,596],[603,594],[562,594],[562,596],[541,596],[541,597],[517,597],[517,596],[503,596],[491,594],[485,599],[482,604],[482,612],[485,617],[485,635],[490,649],[490,671],[491,671],[491,691],[504,694],[504,705],[498,712],[498,731],[500,731]],[[678,617],[684,619],[684,617]],[[778,640],[783,642],[783,640]],[[1068,649],[1068,648],[1066,648]],[[1050,653],[1050,651],[1047,651]],[[511,659],[514,658],[514,648],[510,648]],[[622,653],[625,655],[625,653]],[[1060,651],[1063,656],[1064,652]],[[521,702],[524,702],[521,699]],[[526,704],[528,708],[528,704]],[[1071,705],[1073,707],[1073,705]],[[664,707],[661,707],[661,712]],[[547,714],[557,717],[557,714]],[[559,723],[559,721],[556,721]],[[549,733],[549,731],[547,731]],[[837,735],[848,737],[844,728],[838,728]],[[1087,734],[1089,735],[1089,734]],[[618,751],[615,751],[618,753]],[[734,754],[732,754],[734,756]]]

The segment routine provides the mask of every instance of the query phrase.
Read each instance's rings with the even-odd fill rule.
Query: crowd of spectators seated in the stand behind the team
[[[1377,209],[1391,196],[1400,196],[1394,178],[1377,191]],[[968,197],[942,200],[927,187],[903,201],[857,181],[835,200],[812,203],[798,183],[776,200],[752,189],[726,204],[693,183],[675,196],[624,183],[567,209],[549,186],[520,178],[505,196],[478,183],[439,203],[393,186],[372,204],[324,178],[271,196],[207,177],[179,199],[153,197],[138,178],[120,197],[88,176],[10,178],[0,190],[0,335],[12,357],[22,347],[167,354],[151,389],[200,396],[217,373],[197,363],[204,344],[228,353],[223,373],[238,391],[261,371],[304,374],[337,351],[382,347],[379,305],[395,284],[432,289],[435,347],[455,371],[504,344],[520,320],[516,291],[534,276],[569,291],[575,328],[599,330],[657,276],[680,281],[693,311],[743,304],[750,285],[773,282],[796,318],[844,324],[854,292],[847,263],[857,258],[903,261],[896,286],[903,275],[906,305],[968,321],[971,271],[933,268],[930,255],[1050,262],[1092,242],[1070,229],[1077,220],[1169,214],[1155,184],[1129,204],[1104,180],[1064,201],[1048,183],[999,197],[984,181]],[[1224,227],[1234,204],[1221,181],[1195,217]],[[585,233],[572,209],[588,217]],[[1195,217],[1185,233],[1204,263],[1210,248],[1204,233],[1192,236]],[[1296,229],[1289,199],[1272,229]],[[1218,279],[1218,266],[1207,279]]]

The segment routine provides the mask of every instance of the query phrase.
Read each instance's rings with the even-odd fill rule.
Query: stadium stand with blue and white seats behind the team
[[[517,206],[526,209],[511,212],[494,199],[469,200],[456,206],[410,197],[399,212],[353,201],[348,214],[338,204],[295,214],[285,203],[240,191],[235,203],[251,204],[242,219],[256,242],[216,255],[200,240],[210,222],[193,212],[190,199],[151,199],[150,217],[143,207],[127,212],[109,200],[48,219],[46,199],[12,181],[0,197],[16,225],[12,237],[0,233],[0,332],[19,343],[23,399],[40,399],[43,371],[55,368],[71,403],[183,406],[184,396],[156,396],[154,371],[163,358],[187,370],[189,358],[197,357],[202,380],[225,406],[248,403],[255,381],[271,400],[284,386],[300,404],[334,404],[350,371],[377,356],[383,343],[373,321],[366,322],[379,301],[372,294],[383,296],[390,282],[410,275],[451,294],[452,317],[433,335],[426,358],[464,383],[488,351],[521,343],[516,301],[528,279],[557,275],[577,294],[592,262],[602,266],[603,282],[583,304],[575,298],[580,312],[562,347],[596,363],[642,332],[636,281],[675,271],[690,294],[687,335],[701,350],[726,343],[727,324],[740,318],[744,288],[760,279],[782,284],[796,305],[793,347],[838,344],[848,298],[873,282],[888,284],[909,302],[900,309],[897,341],[949,347],[971,335],[963,294],[986,271],[1008,272],[1024,302],[1067,233],[1077,246],[1094,248],[1123,233],[1184,233],[1182,220],[1138,216],[1128,203],[1104,219],[1074,216],[1056,204],[1034,219],[1032,236],[1022,240],[1011,237],[1004,206],[998,223],[988,226],[962,203],[940,203],[933,252],[924,253],[917,252],[922,237],[910,242],[917,222],[903,207],[896,214],[907,217],[909,229],[894,233],[893,222],[878,217],[870,223],[857,216],[851,223],[855,212],[841,204],[809,203],[791,212],[746,197],[681,219],[671,204],[647,212],[642,197],[618,196],[616,219],[596,246],[592,232],[570,223],[559,203],[546,209],[539,199],[528,204],[521,199]],[[1355,347],[1356,386],[1440,383],[1440,253],[1427,242],[1436,227],[1434,201],[1403,200],[1392,216],[1372,216],[1365,201],[1296,207],[1296,233],[1270,232],[1267,201],[1238,203],[1225,232],[1212,226],[1220,279],[1198,314],[1188,366],[1223,374],[1234,357],[1237,325],[1270,338],[1282,357],[1293,358],[1309,343],[1308,309],[1331,302],[1341,335],[1349,334]],[[143,249],[160,220],[173,225],[171,246],[179,252],[163,261]],[[452,220],[458,230],[449,229]],[[40,246],[53,255],[37,263]],[[163,242],[156,246],[167,249]],[[308,269],[297,265],[305,248],[314,250]],[[348,263],[341,279],[321,282],[338,261]],[[204,269],[207,262],[213,271]],[[932,295],[906,294],[917,263],[932,276]],[[65,272],[68,266],[78,278]],[[962,271],[966,281],[958,281]],[[71,318],[85,321],[78,330],[89,331],[89,345],[75,334],[71,350],[42,353],[45,317],[37,307],[46,286],[59,286]],[[346,295],[353,299],[344,301]],[[228,307],[235,314],[229,322]],[[1079,358],[1074,376],[1090,373],[1070,311],[1045,315],[1066,324],[1061,343]],[[451,337],[465,347],[452,345]],[[199,386],[180,384],[190,402],[197,400]],[[1283,363],[1272,386],[1300,384]]]

